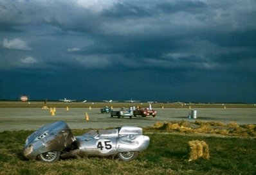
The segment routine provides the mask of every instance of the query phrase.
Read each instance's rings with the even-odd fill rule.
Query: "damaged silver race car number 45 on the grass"
[[[92,130],[74,137],[66,122],[57,121],[32,133],[26,139],[23,154],[43,162],[55,162],[60,156],[117,156],[131,161],[149,147],[149,141],[142,135],[142,128],[136,126]]]

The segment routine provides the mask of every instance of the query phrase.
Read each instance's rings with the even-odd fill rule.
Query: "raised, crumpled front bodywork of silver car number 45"
[[[26,139],[23,154],[34,159],[48,151],[62,151],[75,141],[71,129],[64,121],[53,122],[38,129]]]

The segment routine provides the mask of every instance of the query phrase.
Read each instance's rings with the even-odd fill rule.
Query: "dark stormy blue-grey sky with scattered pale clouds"
[[[0,0],[0,99],[256,103],[254,0]]]

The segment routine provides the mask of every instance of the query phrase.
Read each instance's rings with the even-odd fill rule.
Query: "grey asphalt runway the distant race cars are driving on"
[[[153,126],[156,122],[170,121],[215,121],[256,124],[256,108],[197,108],[197,119],[188,119],[188,108],[154,108],[158,113],[153,117],[111,118],[109,113],[100,113],[100,108],[56,108],[55,115],[50,109],[41,108],[0,108],[0,131],[35,130],[44,124],[65,121],[71,129],[115,128],[123,125]],[[86,121],[86,113],[89,121]]]

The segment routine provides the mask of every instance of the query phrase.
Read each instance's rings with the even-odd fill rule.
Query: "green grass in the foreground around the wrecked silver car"
[[[147,128],[147,132],[151,131]],[[74,130],[82,135],[86,130]],[[23,145],[32,131],[0,133],[0,174],[256,174],[255,138],[201,137],[196,135],[149,135],[149,148],[133,162],[113,158],[71,158],[55,163],[26,160]],[[203,140],[210,159],[188,162],[188,141]]]

